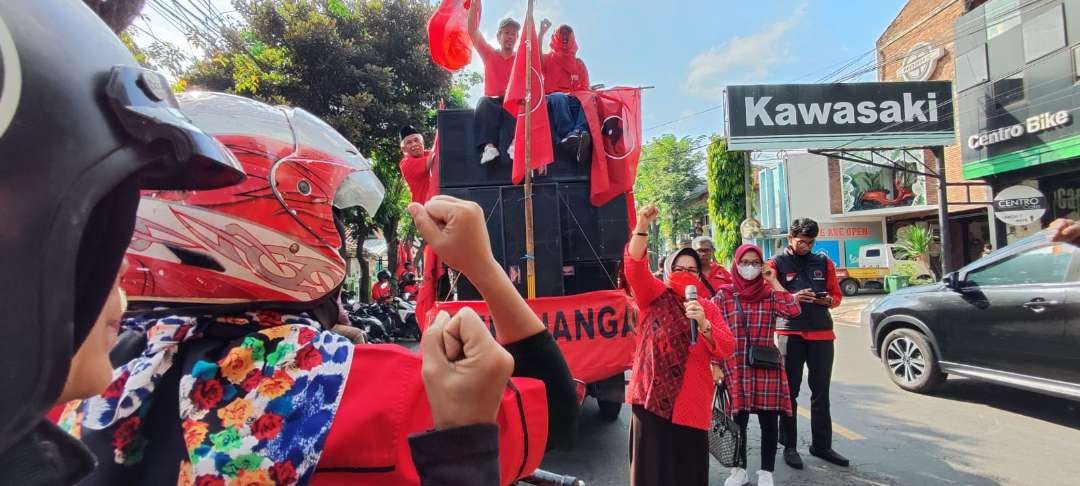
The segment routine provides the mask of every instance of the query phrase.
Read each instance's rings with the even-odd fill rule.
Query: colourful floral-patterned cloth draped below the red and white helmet
[[[143,354],[60,426],[98,458],[90,485],[306,484],[353,345],[300,315],[135,319]],[[183,345],[183,346],[181,346]],[[179,427],[177,427],[179,426]]]

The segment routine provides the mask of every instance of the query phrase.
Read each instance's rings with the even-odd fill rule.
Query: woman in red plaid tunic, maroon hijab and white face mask
[[[735,352],[724,363],[724,374],[731,393],[731,409],[735,422],[746,436],[750,415],[757,414],[761,426],[761,470],[757,484],[772,486],[772,470],[777,463],[779,415],[792,415],[791,394],[783,361],[769,368],[751,366],[751,347],[777,349],[772,335],[777,318],[799,314],[799,303],[777,280],[777,271],[766,267],[761,248],[745,244],[735,249],[731,283],[717,289],[713,302],[720,309],[735,337]],[[764,272],[762,272],[764,269]],[[777,350],[779,356],[780,351]],[[746,474],[746,441],[742,441],[739,467],[731,469],[725,486],[742,486]]]

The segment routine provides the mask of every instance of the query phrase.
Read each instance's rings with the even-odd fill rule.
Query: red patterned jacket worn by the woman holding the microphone
[[[640,323],[637,328],[638,343],[634,353],[633,373],[630,388],[626,389],[626,402],[645,406],[650,413],[673,423],[708,430],[712,423],[715,387],[708,363],[713,359],[726,360],[734,351],[735,346],[724,314],[707,298],[699,297],[698,302],[704,308],[705,318],[712,324],[712,340],[699,336],[698,342],[690,345],[688,351],[677,351],[674,349],[677,348],[677,343],[670,341],[665,336],[676,336],[675,339],[680,339],[678,336],[681,329],[689,328],[687,320],[685,318],[656,320],[654,315],[650,315],[659,310],[653,302],[665,298],[664,295],[670,289],[663,282],[652,276],[645,259],[636,260],[627,251],[623,261],[626,282],[634,294]],[[656,325],[650,324],[653,320]],[[685,342],[685,338],[681,339]],[[681,383],[674,390],[675,401],[670,417],[664,417],[663,411],[657,413],[650,409],[649,405],[658,399],[664,401],[664,395],[673,392],[671,387],[674,383],[666,382],[664,378],[670,373],[670,369],[665,369],[666,366],[662,364],[665,362],[684,365]]]

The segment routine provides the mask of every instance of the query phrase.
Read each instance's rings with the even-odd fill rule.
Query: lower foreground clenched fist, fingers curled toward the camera
[[[446,312],[420,340],[423,386],[436,430],[495,423],[514,359],[495,341],[480,315]]]

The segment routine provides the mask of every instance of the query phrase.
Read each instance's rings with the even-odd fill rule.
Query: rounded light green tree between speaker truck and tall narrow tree
[[[660,210],[660,234],[671,248],[680,235],[690,234],[693,217],[700,211],[692,207],[691,195],[704,185],[704,160],[694,148],[702,138],[662,135],[649,141],[642,151],[642,162],[634,181],[634,197],[643,204],[656,204]],[[653,246],[653,249],[659,249]]]

